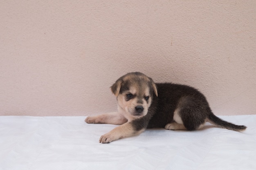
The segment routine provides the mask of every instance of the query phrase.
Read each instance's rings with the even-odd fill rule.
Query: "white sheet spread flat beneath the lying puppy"
[[[150,129],[100,144],[116,125],[86,124],[85,117],[0,116],[0,169],[255,170],[256,115],[220,118],[248,128]]]

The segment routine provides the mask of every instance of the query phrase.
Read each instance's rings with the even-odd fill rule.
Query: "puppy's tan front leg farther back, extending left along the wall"
[[[118,112],[105,113],[98,116],[88,116],[85,119],[86,123],[105,123],[105,124],[124,124],[127,122],[127,119],[124,118]]]

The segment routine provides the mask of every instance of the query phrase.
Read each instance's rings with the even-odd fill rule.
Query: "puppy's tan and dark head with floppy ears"
[[[157,96],[157,87],[153,80],[140,72],[131,72],[121,76],[111,86],[119,107],[133,117],[145,116],[153,100]]]

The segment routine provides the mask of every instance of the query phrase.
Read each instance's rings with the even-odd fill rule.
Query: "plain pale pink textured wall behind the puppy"
[[[116,110],[140,71],[203,92],[216,115],[256,113],[256,1],[0,2],[0,115]]]

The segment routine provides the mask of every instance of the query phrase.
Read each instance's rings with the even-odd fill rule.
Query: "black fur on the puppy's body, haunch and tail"
[[[173,114],[180,108],[180,117],[187,130],[193,131],[208,118],[218,127],[234,131],[245,130],[246,126],[238,126],[213,115],[204,95],[197,89],[173,83],[156,83],[158,97],[151,90],[153,101],[146,116],[131,123],[136,131],[144,128],[164,128],[173,122]]]

